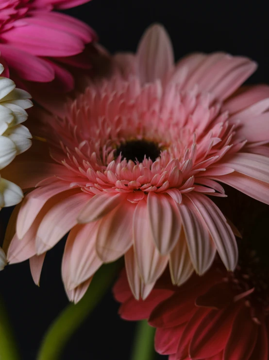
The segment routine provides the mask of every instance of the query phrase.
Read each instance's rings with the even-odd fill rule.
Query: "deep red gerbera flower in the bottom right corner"
[[[253,245],[259,247],[253,239],[241,241],[234,272],[217,259],[205,275],[193,275],[181,287],[165,274],[145,301],[134,299],[123,271],[114,286],[120,316],[148,319],[156,328],[156,351],[169,360],[267,360],[268,261]]]

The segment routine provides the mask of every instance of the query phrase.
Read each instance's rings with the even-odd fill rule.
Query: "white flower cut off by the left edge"
[[[0,64],[0,74],[4,71]],[[33,106],[31,95],[17,89],[14,81],[0,76],[0,170],[32,145],[32,135],[21,125],[28,114],[25,109]],[[22,190],[0,176],[0,209],[18,204],[23,198]],[[6,265],[4,251],[0,248],[0,270]]]

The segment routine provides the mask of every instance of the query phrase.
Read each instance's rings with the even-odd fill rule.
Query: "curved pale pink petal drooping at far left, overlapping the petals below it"
[[[25,196],[17,217],[17,236],[21,239],[29,230],[38,212],[54,195],[70,189],[63,181],[55,181],[50,185],[34,189]]]

